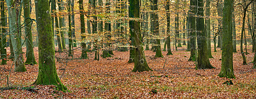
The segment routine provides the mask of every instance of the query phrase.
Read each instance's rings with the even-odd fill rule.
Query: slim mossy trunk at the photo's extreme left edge
[[[4,13],[5,7],[4,7],[4,0],[1,0],[1,26],[2,26],[2,34],[1,34],[1,58],[2,63],[1,65],[6,65],[6,15]]]

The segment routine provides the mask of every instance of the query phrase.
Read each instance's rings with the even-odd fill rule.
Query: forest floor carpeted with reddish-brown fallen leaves
[[[239,52],[237,46],[237,52]],[[23,48],[23,52],[26,48]],[[131,72],[134,63],[127,63],[129,51],[113,51],[115,55],[100,60],[60,60],[56,62],[58,76],[70,92],[56,91],[54,86],[35,86],[38,90],[22,87],[31,86],[38,74],[38,65],[26,65],[27,72],[13,72],[12,61],[0,65],[0,98],[256,98],[256,69],[252,69],[252,46],[248,47],[246,61],[242,65],[241,53],[234,53],[234,74],[236,79],[218,77],[221,70],[221,50],[212,51],[211,65],[216,69],[195,70],[195,62],[188,62],[190,52],[186,46],[172,51],[173,55],[154,58],[155,52],[145,51],[148,66],[154,71]],[[212,49],[213,50],[213,49]],[[38,48],[35,48],[38,62]],[[8,50],[10,52],[10,50]],[[65,57],[66,53],[56,53]],[[79,58],[81,50],[74,52]],[[70,57],[69,57],[70,58]],[[24,57],[26,60],[26,58]],[[7,76],[10,74],[10,77]],[[234,85],[223,84],[232,80]]]

